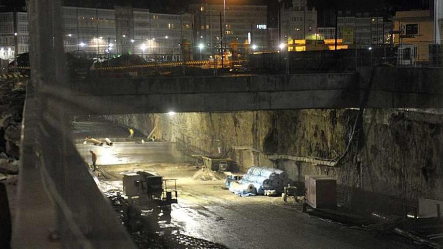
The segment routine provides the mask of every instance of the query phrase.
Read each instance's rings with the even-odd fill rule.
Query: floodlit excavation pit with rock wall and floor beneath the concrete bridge
[[[399,116],[406,117],[407,123],[399,124]],[[169,186],[177,200],[170,210],[161,206],[140,209],[134,216],[137,221],[119,217],[140,247],[171,248],[190,243],[270,248],[290,247],[297,240],[328,248],[416,248],[417,244],[437,248],[441,240],[433,236],[439,237],[439,219],[425,217],[431,217],[432,212],[438,215],[430,199],[440,195],[441,188],[427,186],[431,182],[438,185],[439,180],[419,180],[424,170],[415,168],[412,161],[402,163],[404,175],[399,179],[394,170],[398,162],[391,161],[392,168],[386,169],[379,160],[386,160],[386,151],[401,153],[400,146],[407,146],[399,140],[404,135],[392,134],[390,127],[418,132],[416,139],[423,141],[440,139],[432,136],[433,125],[429,131],[414,128],[417,122],[438,116],[432,110],[366,110],[357,122],[351,149],[338,164],[337,158],[346,151],[346,141],[352,135],[356,110],[79,117],[73,123],[73,136],[91,170],[89,151],[98,155],[94,177],[116,207],[121,208],[120,198],[125,198],[124,178],[128,174],[150,172],[176,181]],[[288,118],[298,120],[293,125],[300,128],[281,127],[280,122]],[[128,129],[135,129],[133,137],[128,138]],[[386,135],[374,136],[375,130],[385,130]],[[103,142],[85,140],[88,135]],[[105,137],[113,144],[107,145]],[[293,144],[291,139],[298,142]],[[436,144],[429,142],[428,146]],[[375,146],[383,146],[385,151],[379,152]],[[288,155],[304,153],[315,156]],[[220,169],[220,161],[227,167]],[[248,169],[253,166],[280,169],[296,191],[291,194],[262,184],[248,190],[244,183],[238,189],[230,188],[230,180],[242,183],[239,180],[248,178]],[[370,174],[378,177],[373,179]],[[317,199],[308,197],[310,178],[317,181]],[[321,188],[322,178],[329,184],[326,189]],[[413,186],[401,184],[404,178],[416,182]],[[277,192],[265,195],[263,187]],[[419,197],[420,191],[431,193],[429,188],[435,190],[435,197]],[[126,209],[116,210],[117,215],[129,215]],[[245,240],[251,234],[260,236]],[[315,239],[318,236],[323,239]],[[432,239],[419,240],[426,236]]]

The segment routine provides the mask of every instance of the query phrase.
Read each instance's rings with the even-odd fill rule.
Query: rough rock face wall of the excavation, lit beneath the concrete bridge
[[[305,175],[337,179],[339,203],[399,212],[418,197],[443,200],[443,115],[422,111],[365,110],[348,153],[336,167],[266,159],[269,154],[337,159],[345,151],[357,110],[120,115],[106,118],[177,141],[193,152],[227,152],[240,171],[266,165],[303,181]],[[233,149],[234,146],[234,149]]]

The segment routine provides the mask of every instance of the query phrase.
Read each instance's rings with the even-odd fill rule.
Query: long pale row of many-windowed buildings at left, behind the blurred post
[[[82,50],[90,57],[137,54],[155,60],[181,60],[181,44],[192,44],[190,14],[155,14],[147,9],[63,7],[66,52]],[[0,13],[0,56],[14,59],[28,52],[26,12]],[[183,42],[185,41],[185,42]]]

